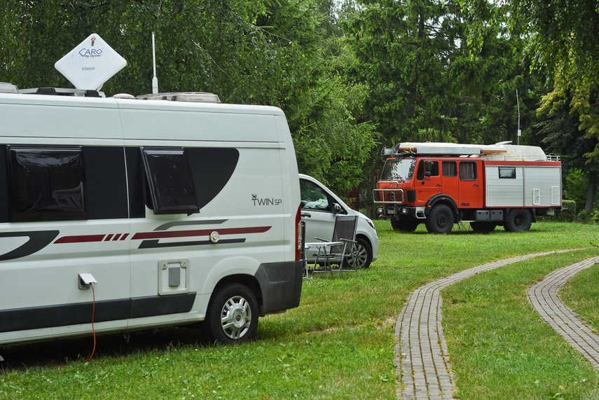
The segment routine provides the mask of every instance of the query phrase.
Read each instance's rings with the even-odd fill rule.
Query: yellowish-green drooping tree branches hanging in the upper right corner
[[[550,115],[562,104],[569,104],[570,111],[579,120],[581,136],[591,141],[591,149],[584,153],[584,168],[588,177],[595,176],[599,165],[597,3],[588,0],[503,0],[491,6],[486,1],[463,0],[462,5],[480,17],[470,27],[471,41],[488,29],[483,16],[491,14],[495,15],[495,25],[505,24],[511,28],[512,35],[524,36],[530,42],[528,53],[532,66],[546,71],[553,83],[551,91],[541,99],[539,113]],[[476,43],[480,45],[481,40],[476,39]],[[592,207],[591,200],[587,199],[587,210]]]

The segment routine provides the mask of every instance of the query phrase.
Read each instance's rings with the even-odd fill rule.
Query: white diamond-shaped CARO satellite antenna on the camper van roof
[[[90,34],[54,67],[82,90],[99,90],[127,61],[116,53],[98,34]]]

